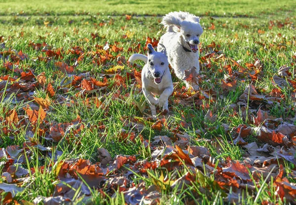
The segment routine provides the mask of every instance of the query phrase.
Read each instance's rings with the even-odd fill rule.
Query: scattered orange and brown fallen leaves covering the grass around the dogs
[[[129,15],[125,18],[133,20]],[[209,26],[213,31],[217,29],[214,24]],[[258,33],[264,34],[262,30]],[[291,113],[273,116],[273,109],[278,105],[284,112],[292,109],[295,114],[285,90],[289,88],[295,98],[296,83],[291,67],[282,66],[278,74],[265,76],[262,70],[266,61],[261,62],[258,56],[254,55],[252,62],[243,64],[234,60],[236,56],[223,53],[223,45],[214,41],[202,44],[200,75],[192,70],[186,72],[187,81],[199,84],[200,89],[186,90],[180,83],[175,83],[169,103],[176,122],[160,112],[159,119],[153,120],[145,114],[148,106],[141,104],[143,100],[138,95],[142,89],[141,72],[136,65],[125,62],[127,55],[141,52],[141,44],[131,43],[126,56],[121,53],[126,48],[117,41],[94,43],[95,50],[78,45],[54,48],[49,42],[25,45],[25,48],[33,46],[38,50],[36,54],[26,54],[26,49],[14,51],[13,47],[5,45],[5,52],[1,52],[5,71],[0,77],[0,97],[7,103],[13,98],[14,104],[1,107],[0,140],[9,143],[9,138],[13,143],[17,142],[18,135],[23,132],[25,137],[18,145],[7,144],[0,148],[1,202],[9,204],[21,199],[18,193],[29,189],[28,177],[41,172],[51,173],[52,180],[58,183],[54,184],[50,195],[36,196],[36,204],[79,200],[91,203],[94,191],[105,200],[116,199],[122,194],[128,204],[157,204],[171,194],[178,195],[189,189],[190,195],[182,199],[184,203],[192,203],[193,198],[199,199],[203,195],[214,201],[213,193],[219,192],[225,203],[240,204],[245,200],[242,194],[255,200],[261,186],[276,200],[295,203],[295,181],[284,171],[287,163],[290,167],[296,166],[296,128],[293,120],[289,120],[294,116]],[[157,46],[158,41],[150,37],[142,40],[143,47],[148,43]],[[37,71],[35,66],[25,67],[33,58],[37,64],[52,65],[52,75],[57,80],[46,72]],[[87,59],[101,70],[80,72],[79,66]],[[217,68],[217,64],[222,66]],[[224,78],[219,79],[216,75]],[[208,81],[208,78],[213,79]],[[263,78],[272,83],[273,89],[259,86],[258,81]],[[239,89],[239,95],[231,106],[215,106],[236,89]],[[106,119],[115,118],[115,113],[120,111],[111,111],[114,108],[110,99],[140,111],[137,112],[140,117],[120,116],[121,129],[111,133],[116,135],[115,140],[108,135],[112,127],[107,125]],[[54,118],[61,105],[69,109],[68,115],[74,115],[72,119]],[[85,113],[79,112],[81,108],[93,115],[103,110],[101,121],[90,122],[91,116],[85,117]],[[178,116],[178,110],[182,109],[184,113]],[[193,123],[196,117],[192,114],[196,110],[203,120],[192,132],[189,128],[197,125]],[[221,117],[222,111],[228,115],[226,121]],[[238,118],[243,121],[235,122]],[[225,139],[217,136],[220,132],[215,132],[219,126],[223,126]],[[147,129],[155,133],[152,138],[145,133]],[[91,158],[80,158],[79,154],[71,156],[65,142],[71,149],[85,149],[86,132],[95,133],[100,147],[92,145],[94,155]],[[110,144],[115,141],[123,146],[140,143],[143,148],[132,155],[111,152]],[[231,155],[226,146],[238,149],[242,157]],[[63,152],[70,157],[58,159],[56,155],[61,156]],[[227,153],[226,157],[223,157],[224,153]],[[37,161],[50,159],[51,163],[28,167],[28,164],[36,163],[36,155]],[[294,169],[291,168],[291,172]],[[270,190],[274,193],[269,193]]]

